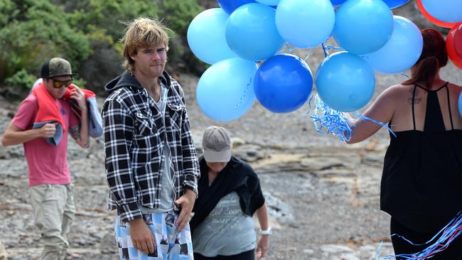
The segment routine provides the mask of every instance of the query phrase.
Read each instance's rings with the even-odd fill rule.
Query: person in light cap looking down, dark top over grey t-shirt
[[[229,131],[209,126],[199,158],[199,196],[190,229],[194,259],[260,259],[269,249],[267,206],[257,174],[248,163],[232,156]],[[252,215],[260,224],[258,242]]]

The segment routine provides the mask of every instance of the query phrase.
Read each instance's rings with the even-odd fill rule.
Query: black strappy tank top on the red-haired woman
[[[417,232],[435,233],[462,210],[462,130],[453,127],[447,85],[438,90],[414,85],[414,129],[395,132],[396,137],[390,134],[385,154],[380,209]],[[417,87],[428,92],[424,131],[415,124]],[[448,97],[448,131],[438,100],[440,90],[446,90]]]

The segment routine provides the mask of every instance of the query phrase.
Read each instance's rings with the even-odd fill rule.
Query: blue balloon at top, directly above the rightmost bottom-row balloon
[[[382,0],[348,0],[335,12],[333,37],[350,53],[382,48],[392,31],[393,13]]]

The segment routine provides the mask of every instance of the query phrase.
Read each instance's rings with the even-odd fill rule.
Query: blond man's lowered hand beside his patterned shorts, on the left
[[[131,220],[130,222],[130,236],[133,246],[143,251],[146,254],[154,253],[154,245],[156,244],[156,239],[149,229],[148,225],[144,223],[143,218],[136,220]]]

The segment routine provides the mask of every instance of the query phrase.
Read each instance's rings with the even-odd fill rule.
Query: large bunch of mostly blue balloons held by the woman
[[[375,90],[375,72],[404,72],[419,59],[419,28],[391,11],[408,1],[217,0],[220,8],[199,13],[188,28],[191,50],[211,65],[198,83],[200,108],[217,121],[241,117],[255,99],[272,112],[293,112],[308,100],[313,82],[328,107],[364,107]],[[451,4],[418,0],[436,18],[454,23],[461,0],[448,1],[458,11],[446,13],[441,6]],[[452,55],[459,59],[460,31],[453,27],[451,36]],[[325,43],[331,36],[344,51],[329,55]],[[290,50],[319,45],[326,59],[313,80],[305,61]]]

